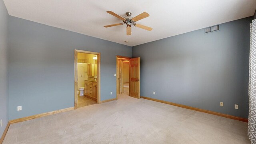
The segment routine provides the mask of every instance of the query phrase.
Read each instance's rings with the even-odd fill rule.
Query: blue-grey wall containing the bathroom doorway
[[[74,49],[101,53],[101,100],[116,98],[116,55],[130,46],[13,16],[8,32],[10,120],[74,106]]]

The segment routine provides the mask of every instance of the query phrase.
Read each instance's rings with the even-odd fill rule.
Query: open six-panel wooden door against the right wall
[[[130,58],[130,96],[140,99],[140,57]]]

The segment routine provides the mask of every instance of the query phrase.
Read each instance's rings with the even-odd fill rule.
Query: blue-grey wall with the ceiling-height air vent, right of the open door
[[[141,60],[140,95],[248,118],[250,22],[243,18],[220,24],[218,32],[200,29],[132,47]]]

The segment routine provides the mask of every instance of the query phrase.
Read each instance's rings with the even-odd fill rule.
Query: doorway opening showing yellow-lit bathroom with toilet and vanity
[[[74,107],[100,102],[100,53],[74,50]]]

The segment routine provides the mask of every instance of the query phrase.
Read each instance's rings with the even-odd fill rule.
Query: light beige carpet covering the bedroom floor
[[[247,123],[121,94],[11,124],[3,144],[250,144]]]

